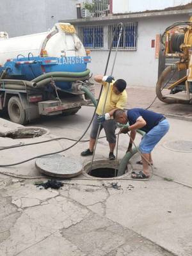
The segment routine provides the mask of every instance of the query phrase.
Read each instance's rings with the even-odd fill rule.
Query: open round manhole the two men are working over
[[[97,159],[84,165],[83,174],[88,177],[97,177],[100,179],[110,179],[122,177],[118,173],[118,161],[112,161],[108,159]],[[91,166],[92,165],[92,166]],[[127,174],[127,173],[123,173]]]

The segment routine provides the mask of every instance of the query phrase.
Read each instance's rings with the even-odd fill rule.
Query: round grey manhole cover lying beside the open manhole
[[[83,166],[76,159],[61,155],[45,156],[36,159],[36,167],[41,173],[54,177],[70,178],[79,175]]]

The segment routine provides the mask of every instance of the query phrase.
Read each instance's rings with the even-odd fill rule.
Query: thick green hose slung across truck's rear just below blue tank
[[[86,69],[83,72],[49,72],[49,73],[46,73],[46,74],[36,77],[31,82],[37,83],[37,82],[42,81],[49,77],[54,77],[54,79],[55,79],[55,77],[77,77],[76,80],[78,80],[78,79],[81,80],[82,78],[79,78],[79,77],[87,77],[89,74],[90,74],[89,69]]]

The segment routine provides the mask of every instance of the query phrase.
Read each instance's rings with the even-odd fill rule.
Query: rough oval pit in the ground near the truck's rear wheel
[[[12,139],[26,139],[40,137],[48,131],[42,127],[19,127],[17,130],[10,131],[6,137]]]

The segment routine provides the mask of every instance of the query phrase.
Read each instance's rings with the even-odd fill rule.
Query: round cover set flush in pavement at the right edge
[[[163,147],[176,152],[192,152],[192,141],[188,140],[174,140],[166,141]]]

